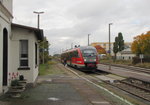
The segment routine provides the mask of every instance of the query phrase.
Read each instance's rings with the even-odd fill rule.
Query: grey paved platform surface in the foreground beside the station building
[[[37,85],[23,92],[20,99],[5,95],[0,105],[110,105],[89,84],[72,75],[39,76]]]

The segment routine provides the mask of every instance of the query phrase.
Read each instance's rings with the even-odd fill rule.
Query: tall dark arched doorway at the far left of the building
[[[3,30],[3,86],[7,86],[8,77],[8,31]]]

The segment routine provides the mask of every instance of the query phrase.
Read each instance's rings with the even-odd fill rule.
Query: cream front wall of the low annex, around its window
[[[12,41],[11,41],[11,59],[12,63],[10,64],[12,72],[19,72],[19,74],[24,75],[28,83],[33,83],[38,76],[38,67],[35,68],[35,43],[37,38],[34,33],[22,29],[22,28],[12,28]],[[28,40],[28,62],[30,70],[18,70],[19,68],[19,40],[26,39]]]

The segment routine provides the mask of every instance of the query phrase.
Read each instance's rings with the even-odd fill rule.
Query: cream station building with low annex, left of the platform
[[[23,75],[29,84],[38,76],[39,41],[43,30],[13,24],[13,0],[0,0],[0,94]]]

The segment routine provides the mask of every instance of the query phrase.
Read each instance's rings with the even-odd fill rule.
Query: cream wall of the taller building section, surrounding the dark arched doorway
[[[13,0],[1,0],[2,5],[12,14],[12,2]],[[1,7],[3,7],[1,5]],[[2,8],[0,10],[0,94],[3,91],[3,29],[6,28],[8,32],[8,72],[10,72],[11,68],[10,64],[10,36],[11,36],[11,22],[12,17],[7,14],[7,10]],[[8,79],[8,78],[7,78]],[[8,80],[9,83],[9,80]]]

